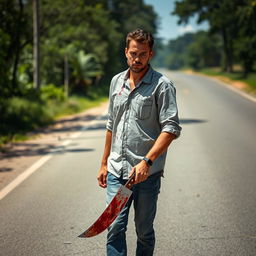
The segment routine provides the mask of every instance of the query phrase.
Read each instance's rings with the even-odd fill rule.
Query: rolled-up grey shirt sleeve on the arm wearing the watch
[[[171,82],[164,81],[160,87],[157,99],[159,123],[161,132],[169,132],[180,136],[176,89]]]

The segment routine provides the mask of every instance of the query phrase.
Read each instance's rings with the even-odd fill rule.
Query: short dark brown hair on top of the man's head
[[[154,46],[154,38],[151,33],[142,30],[142,29],[136,29],[126,36],[126,47],[129,48],[129,44],[131,40],[135,40],[140,43],[148,43],[150,49],[152,50]]]

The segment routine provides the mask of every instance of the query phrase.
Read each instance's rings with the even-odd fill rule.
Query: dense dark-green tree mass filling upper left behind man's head
[[[6,97],[20,96],[32,84],[32,2],[0,0],[0,93]],[[103,75],[110,78],[124,68],[126,33],[137,27],[156,32],[157,16],[143,0],[39,2],[41,84],[64,83],[66,57],[71,88],[86,88]],[[80,52],[93,56],[89,73],[81,74]]]

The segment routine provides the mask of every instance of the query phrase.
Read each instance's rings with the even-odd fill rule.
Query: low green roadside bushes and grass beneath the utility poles
[[[98,88],[88,92],[91,97],[71,96],[64,100],[64,93],[53,85],[41,88],[41,93],[27,97],[5,99],[0,109],[0,145],[18,137],[24,138],[28,131],[53,122],[57,117],[81,112],[107,99],[105,90]],[[3,99],[2,99],[3,101]],[[2,110],[2,111],[1,111]]]

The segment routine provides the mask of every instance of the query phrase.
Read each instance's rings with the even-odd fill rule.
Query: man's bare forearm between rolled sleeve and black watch
[[[155,161],[161,154],[163,154],[171,144],[171,142],[176,138],[176,135],[168,132],[162,132],[153,147],[147,153],[146,157],[151,161]]]

